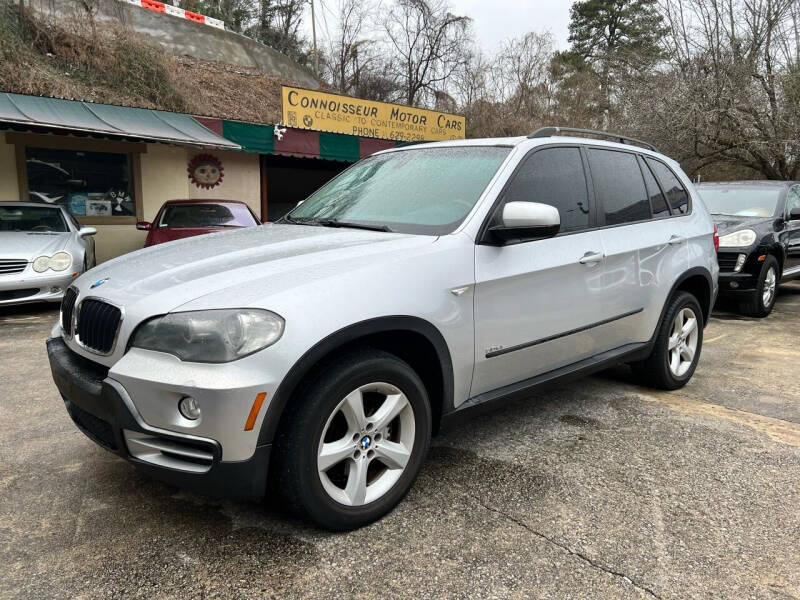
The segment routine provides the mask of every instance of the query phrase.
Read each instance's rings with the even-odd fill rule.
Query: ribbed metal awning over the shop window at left
[[[241,146],[203,127],[189,115],[77,100],[0,93],[0,123],[239,150]]]

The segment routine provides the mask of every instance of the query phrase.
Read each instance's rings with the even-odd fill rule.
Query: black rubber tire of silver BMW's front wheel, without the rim
[[[408,463],[383,496],[362,506],[335,501],[317,470],[317,450],[329,416],[354,389],[373,382],[399,388],[413,409],[415,435]],[[367,525],[392,510],[419,474],[431,439],[431,408],[425,386],[414,370],[396,356],[365,349],[345,354],[304,385],[289,407],[276,439],[272,477],[284,504],[301,518],[333,531]]]

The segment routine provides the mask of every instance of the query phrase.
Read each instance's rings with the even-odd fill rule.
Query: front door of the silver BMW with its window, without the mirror
[[[545,147],[530,154],[493,220],[515,201],[558,208],[561,233],[475,247],[473,397],[596,354],[590,327],[607,316],[603,242],[591,230],[595,215],[580,149]]]

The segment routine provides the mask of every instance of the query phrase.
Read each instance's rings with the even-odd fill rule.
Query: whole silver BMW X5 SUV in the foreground
[[[683,386],[711,218],[669,158],[565,132],[382,152],[279,223],[92,269],[47,342],[70,416],[174,485],[349,529],[470,409],[615,363]]]

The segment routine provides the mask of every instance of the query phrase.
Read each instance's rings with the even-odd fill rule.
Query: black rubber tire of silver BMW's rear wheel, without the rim
[[[682,376],[676,376],[669,366],[669,339],[675,316],[684,308],[690,308],[697,323],[697,349],[688,371]],[[700,303],[688,292],[676,293],[669,302],[664,318],[659,324],[655,345],[650,356],[645,360],[631,364],[631,368],[643,385],[662,390],[677,390],[686,385],[694,375],[700,352],[703,348],[703,311]]]

